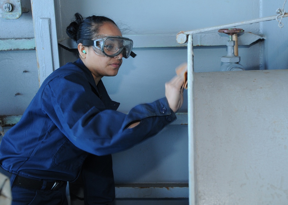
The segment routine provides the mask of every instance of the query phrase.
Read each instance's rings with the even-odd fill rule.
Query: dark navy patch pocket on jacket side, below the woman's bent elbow
[[[75,171],[80,168],[86,157],[89,155],[77,148],[69,139],[67,139],[62,146],[54,154],[52,163],[55,167],[67,171]]]

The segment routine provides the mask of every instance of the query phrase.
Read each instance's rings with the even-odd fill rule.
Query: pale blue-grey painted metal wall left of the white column
[[[0,18],[1,39],[34,38],[30,1],[23,0],[22,7],[29,12],[20,18]],[[23,47],[30,46],[22,42]],[[39,88],[35,50],[0,50],[0,115],[22,115]]]

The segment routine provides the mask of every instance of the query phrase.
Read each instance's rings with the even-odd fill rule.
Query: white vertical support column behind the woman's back
[[[59,67],[54,1],[31,0],[39,86]]]

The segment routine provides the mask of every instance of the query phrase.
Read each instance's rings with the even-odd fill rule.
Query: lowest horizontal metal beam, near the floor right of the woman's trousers
[[[188,183],[116,184],[116,198],[188,198]]]

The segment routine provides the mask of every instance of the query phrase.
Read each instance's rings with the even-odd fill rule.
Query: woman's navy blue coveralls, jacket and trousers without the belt
[[[1,170],[10,173],[12,204],[29,204],[34,197],[31,204],[66,204],[65,186],[57,190],[47,186],[74,181],[81,169],[86,204],[113,200],[111,154],[154,136],[176,119],[165,97],[137,105],[128,114],[116,111],[119,105],[110,99],[101,80],[96,86],[81,59],[50,74],[1,142]],[[139,125],[127,129],[137,120]],[[17,176],[43,184],[35,189],[15,185]]]

